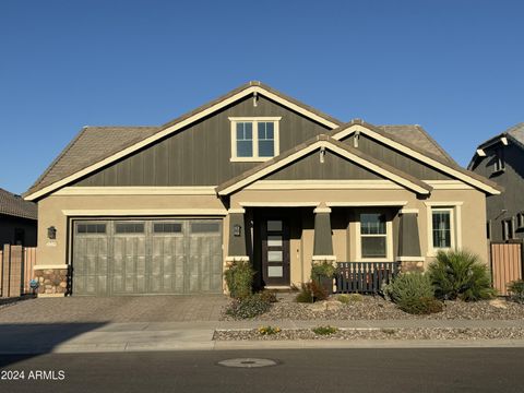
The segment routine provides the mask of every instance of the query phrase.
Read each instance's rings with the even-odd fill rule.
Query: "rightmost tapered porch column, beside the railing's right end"
[[[418,211],[402,210],[398,224],[398,255],[404,272],[422,271],[424,257],[418,234]]]

